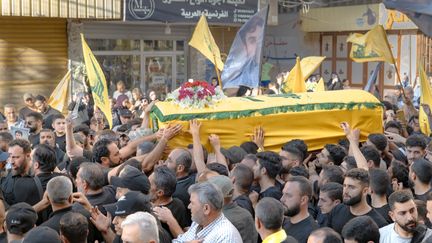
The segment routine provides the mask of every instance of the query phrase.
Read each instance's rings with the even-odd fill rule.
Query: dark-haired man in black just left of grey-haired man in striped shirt
[[[175,174],[166,166],[155,168],[149,177],[150,200],[153,207],[167,207],[182,229],[191,225],[189,212],[178,198],[173,198],[177,180]],[[168,224],[162,223],[162,227],[170,232]],[[171,234],[171,237],[174,235]]]

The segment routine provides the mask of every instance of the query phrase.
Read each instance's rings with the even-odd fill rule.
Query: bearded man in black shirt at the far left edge
[[[1,190],[8,205],[26,202],[34,205],[41,199],[36,182],[30,175],[31,147],[27,140],[15,139],[9,144],[12,171],[1,179]]]

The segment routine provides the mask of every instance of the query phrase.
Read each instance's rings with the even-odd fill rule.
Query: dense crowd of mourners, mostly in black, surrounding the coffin
[[[117,88],[112,129],[86,94],[67,117],[41,95],[4,106],[0,242],[432,242],[432,144],[410,87],[383,98],[384,132],[365,142],[344,122],[321,151],[277,152],[266,127],[233,147],[212,134],[211,150],[197,120],[153,131],[156,94]],[[193,143],[168,147],[180,132]]]

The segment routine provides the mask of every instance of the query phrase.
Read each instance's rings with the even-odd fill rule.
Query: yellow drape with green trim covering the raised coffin
[[[256,127],[265,131],[265,149],[279,151],[291,139],[303,139],[309,150],[336,143],[344,137],[340,123],[361,129],[361,140],[369,133],[382,132],[382,106],[375,96],[362,90],[233,97],[205,109],[181,109],[159,102],[151,117],[155,127],[183,124],[183,130],[169,143],[171,148],[192,143],[189,121],[202,122],[201,143],[210,149],[208,136],[219,135],[223,147],[250,141]]]

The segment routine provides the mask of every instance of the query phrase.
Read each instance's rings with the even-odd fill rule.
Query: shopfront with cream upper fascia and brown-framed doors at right
[[[402,78],[414,85],[417,76],[419,39],[421,33],[409,18],[400,12],[387,10],[383,4],[348,7],[317,8],[302,13],[302,30],[320,34],[320,55],[326,56],[321,75],[329,80],[336,72],[341,79],[350,80],[354,88],[363,88],[377,63],[355,63],[349,58],[351,45],[346,42],[351,33],[365,33],[381,24],[387,30],[388,40]],[[343,19],[344,21],[340,21]],[[393,65],[385,63],[379,74],[379,90],[393,88],[397,83]]]

